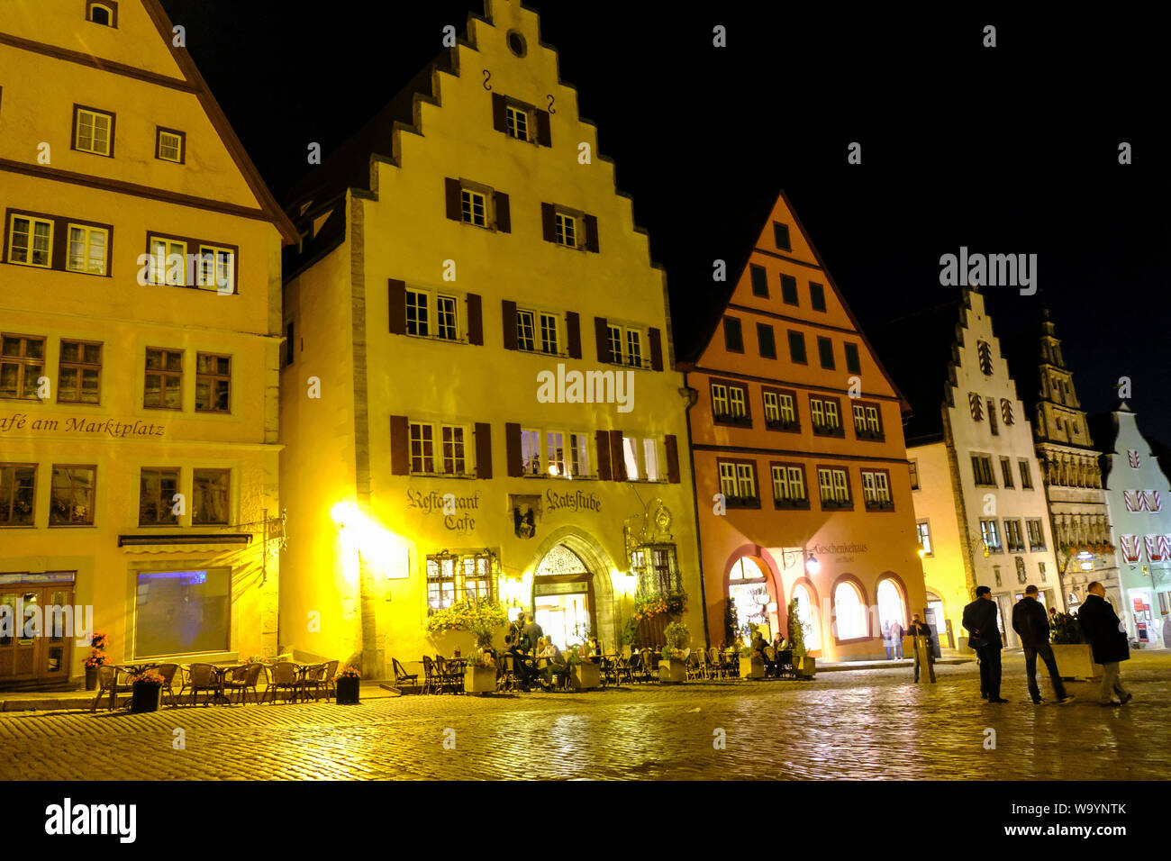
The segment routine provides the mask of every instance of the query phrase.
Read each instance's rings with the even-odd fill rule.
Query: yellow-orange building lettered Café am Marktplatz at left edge
[[[76,683],[90,620],[116,663],[275,654],[295,233],[183,35],[0,5],[0,685]]]

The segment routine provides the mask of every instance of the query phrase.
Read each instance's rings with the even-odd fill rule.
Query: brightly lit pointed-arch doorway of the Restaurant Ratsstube
[[[594,575],[563,544],[553,547],[533,576],[533,615],[557,648],[583,643],[596,631]]]

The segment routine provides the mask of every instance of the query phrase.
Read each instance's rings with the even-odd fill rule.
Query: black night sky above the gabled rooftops
[[[444,25],[463,33],[484,13],[479,0],[163,5],[278,198],[309,170],[308,142],[328,153],[439,53]],[[679,353],[719,313],[712,260],[742,259],[783,187],[864,329],[954,298],[939,257],[960,246],[1038,254],[1036,295],[985,291],[998,334],[1033,334],[1052,308],[1082,405],[1110,409],[1129,376],[1139,428],[1171,440],[1156,19],[528,6],[666,266]],[[726,48],[712,47],[718,23]],[[988,23],[997,48],[981,46]],[[847,164],[854,141],[861,165]]]

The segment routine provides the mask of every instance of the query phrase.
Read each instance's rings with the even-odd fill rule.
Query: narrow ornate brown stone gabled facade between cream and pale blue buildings
[[[1118,607],[1118,568],[1110,544],[1110,518],[1098,464],[1101,452],[1094,447],[1074,375],[1066,364],[1048,310],[1041,323],[1038,358],[1033,432],[1049,500],[1066,606],[1076,609],[1086,597],[1086,587],[1096,580]]]

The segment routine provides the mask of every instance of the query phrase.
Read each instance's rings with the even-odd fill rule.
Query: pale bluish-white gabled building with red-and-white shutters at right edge
[[[1131,640],[1171,645],[1171,485],[1125,403],[1093,416],[1122,587],[1118,617]]]

